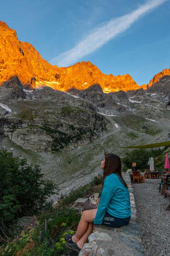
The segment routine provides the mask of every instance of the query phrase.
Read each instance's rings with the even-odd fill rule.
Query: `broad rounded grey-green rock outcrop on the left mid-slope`
[[[102,135],[107,121],[97,112],[77,107],[25,108],[0,118],[4,136],[34,152],[84,146]],[[88,125],[87,125],[88,124]]]

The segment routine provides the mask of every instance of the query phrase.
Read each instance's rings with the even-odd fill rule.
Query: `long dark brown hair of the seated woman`
[[[119,180],[124,184],[124,186],[127,188],[127,184],[125,183],[123,177],[122,177],[122,164],[121,159],[119,156],[114,154],[106,154],[104,156],[105,163],[104,163],[104,169],[103,169],[103,180],[102,184],[104,182],[104,179],[109,176],[112,173],[115,173]]]

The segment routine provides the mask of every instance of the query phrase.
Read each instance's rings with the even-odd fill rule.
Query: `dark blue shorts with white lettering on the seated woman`
[[[125,219],[120,219],[113,217],[107,211],[105,212],[102,224],[112,228],[118,228],[129,223],[130,217]]]

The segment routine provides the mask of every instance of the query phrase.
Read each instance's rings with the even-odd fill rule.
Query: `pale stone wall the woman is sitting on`
[[[127,226],[110,228],[94,225],[89,243],[84,244],[79,256],[142,256],[141,228],[137,223],[136,205],[129,174],[123,175],[128,185],[131,201],[131,220]]]

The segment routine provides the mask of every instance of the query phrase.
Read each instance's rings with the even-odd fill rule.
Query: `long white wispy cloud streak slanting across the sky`
[[[118,34],[124,32],[140,17],[147,14],[149,11],[152,11],[165,1],[166,0],[152,0],[141,5],[139,8],[129,14],[111,19],[107,24],[94,29],[90,35],[80,41],[74,48],[61,53],[57,57],[53,58],[50,62],[59,67],[66,67],[73,64],[83,56],[100,48]]]

